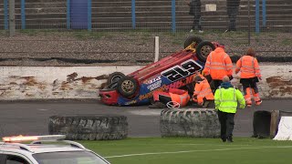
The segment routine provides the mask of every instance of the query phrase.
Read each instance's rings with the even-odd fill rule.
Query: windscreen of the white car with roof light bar
[[[34,154],[39,164],[107,164],[99,156],[89,151],[66,151]]]

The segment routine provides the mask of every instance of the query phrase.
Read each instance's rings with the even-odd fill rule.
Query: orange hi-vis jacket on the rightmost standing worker
[[[241,78],[261,77],[261,72],[258,63],[253,56],[242,56],[236,62],[235,73],[241,72]]]

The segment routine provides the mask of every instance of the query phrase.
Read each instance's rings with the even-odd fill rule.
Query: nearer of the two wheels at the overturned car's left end
[[[117,90],[123,97],[131,97],[136,93],[137,81],[133,77],[122,77],[118,81]]]

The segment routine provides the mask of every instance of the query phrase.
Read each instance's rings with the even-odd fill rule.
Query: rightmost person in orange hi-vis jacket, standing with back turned
[[[256,83],[262,79],[260,68],[258,62],[255,58],[255,50],[253,48],[248,48],[246,55],[242,56],[236,62],[235,74],[240,71],[240,83],[243,85],[245,93],[245,103],[247,107],[252,107],[252,97],[253,93],[255,105],[260,105],[262,103],[259,97],[258,87]]]

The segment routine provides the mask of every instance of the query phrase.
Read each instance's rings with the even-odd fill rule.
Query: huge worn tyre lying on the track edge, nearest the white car
[[[72,140],[122,139],[128,136],[128,122],[124,116],[52,116],[48,132]]]

